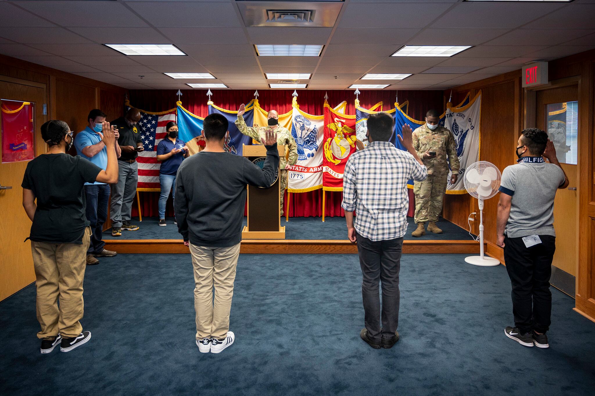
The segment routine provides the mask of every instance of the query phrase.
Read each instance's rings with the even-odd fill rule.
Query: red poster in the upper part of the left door
[[[2,100],[2,162],[33,159],[33,105]]]

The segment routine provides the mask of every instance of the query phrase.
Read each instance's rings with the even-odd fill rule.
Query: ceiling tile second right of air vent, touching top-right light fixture
[[[452,27],[456,21],[465,21],[467,28],[509,28],[521,26],[541,15],[545,15],[563,4],[536,4],[533,2],[461,2],[448,11],[433,27]]]

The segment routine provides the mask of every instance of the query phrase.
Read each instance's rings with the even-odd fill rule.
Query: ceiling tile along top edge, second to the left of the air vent
[[[146,26],[116,1],[15,1],[15,4],[61,26]]]

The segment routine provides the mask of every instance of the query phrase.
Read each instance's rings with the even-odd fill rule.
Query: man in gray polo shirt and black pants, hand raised
[[[502,172],[497,216],[497,244],[504,248],[515,319],[515,326],[504,332],[525,347],[547,348],[556,250],[554,198],[558,188],[568,186],[568,178],[553,143],[540,129],[522,131],[516,156],[518,164]]]

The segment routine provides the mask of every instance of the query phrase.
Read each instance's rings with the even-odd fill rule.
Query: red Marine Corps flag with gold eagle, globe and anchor
[[[356,142],[355,115],[341,114],[324,102],[322,190],[343,191],[345,164]]]

